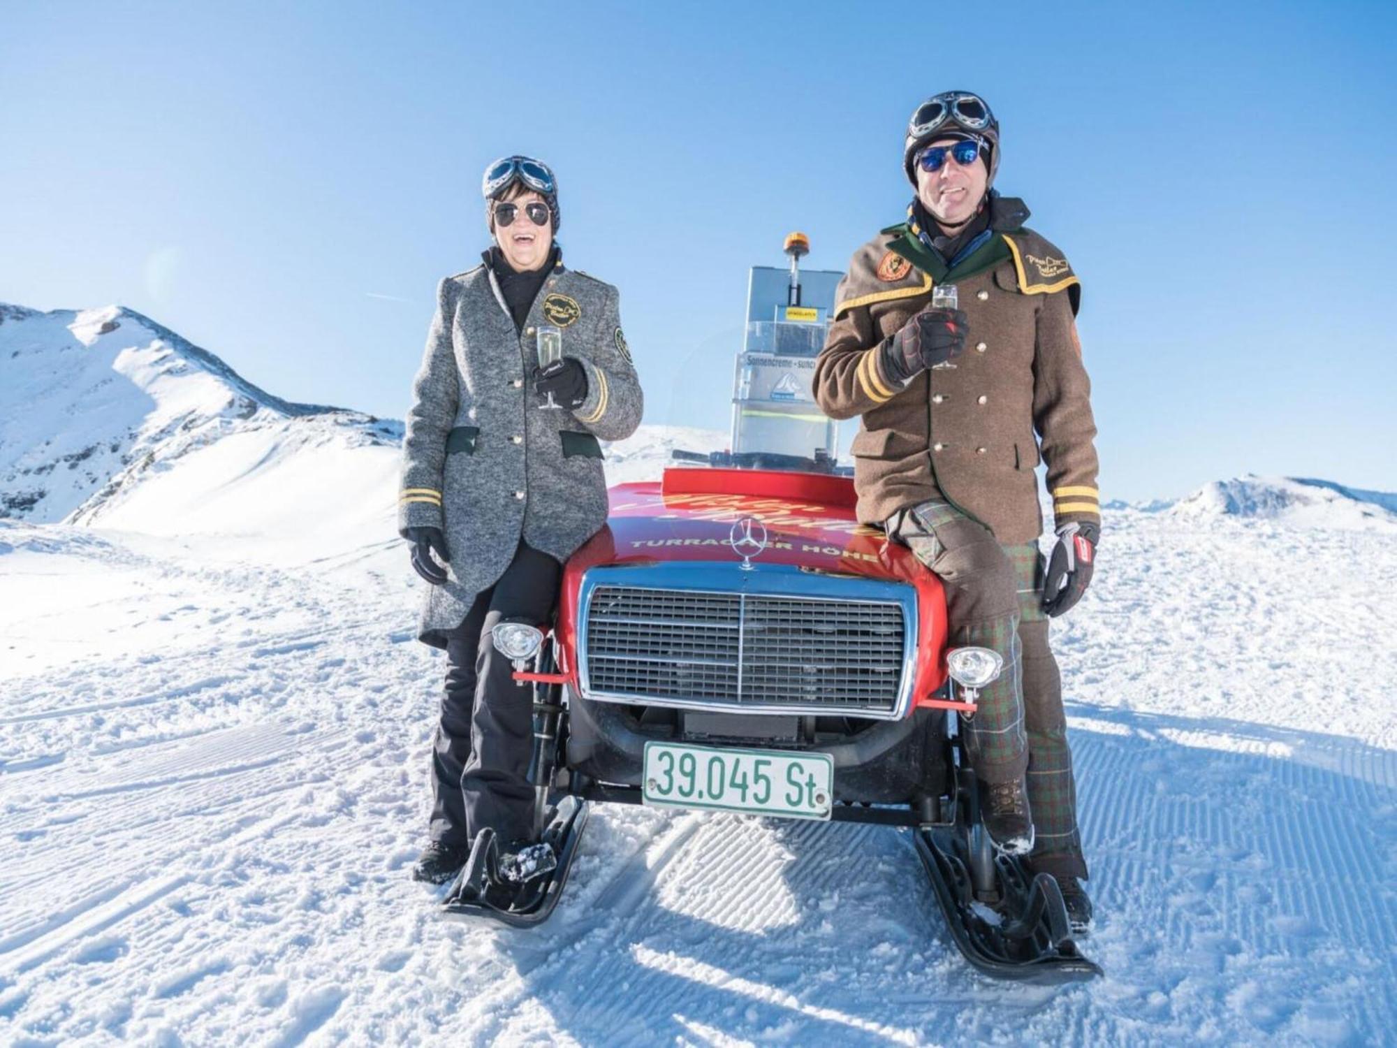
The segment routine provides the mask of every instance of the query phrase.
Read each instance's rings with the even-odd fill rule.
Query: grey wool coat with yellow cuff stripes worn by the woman
[[[562,330],[587,372],[574,411],[542,408],[529,373],[536,330]],[[398,531],[436,527],[451,560],[429,585],[418,639],[446,647],[520,538],[563,562],[606,523],[602,440],[640,425],[644,400],[620,330],[619,292],[557,263],[517,333],[489,265],[447,277],[412,383],[402,443]]]

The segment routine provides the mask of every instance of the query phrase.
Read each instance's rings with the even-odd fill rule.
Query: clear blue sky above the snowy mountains
[[[401,418],[483,165],[559,173],[647,421],[725,428],[747,267],[842,268],[908,112],[1003,127],[1084,281],[1104,497],[1397,490],[1391,4],[0,4],[0,300],[120,302],[282,397]]]

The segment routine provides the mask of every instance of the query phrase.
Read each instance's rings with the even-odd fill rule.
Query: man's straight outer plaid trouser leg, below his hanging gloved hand
[[[1077,830],[1077,785],[1062,708],[1062,674],[1048,644],[1042,611],[1044,558],[1037,542],[1006,545],[1018,588],[1018,639],[1024,651],[1024,717],[1028,724],[1028,806],[1034,816],[1035,873],[1087,878]]]

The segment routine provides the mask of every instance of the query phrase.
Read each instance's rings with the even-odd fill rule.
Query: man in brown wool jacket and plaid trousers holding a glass
[[[1046,622],[1081,597],[1101,534],[1081,288],[1062,252],[1024,228],[1024,203],[990,189],[999,123],[978,95],[918,106],[902,166],[916,189],[907,221],[854,254],[814,394],[833,418],[862,419],[859,520],[940,576],[953,644],[1003,657],[964,725],[985,827],[1058,879],[1084,928],[1087,866]],[[932,306],[937,286],[954,286],[960,307]],[[1045,577],[1039,453],[1058,532]]]

